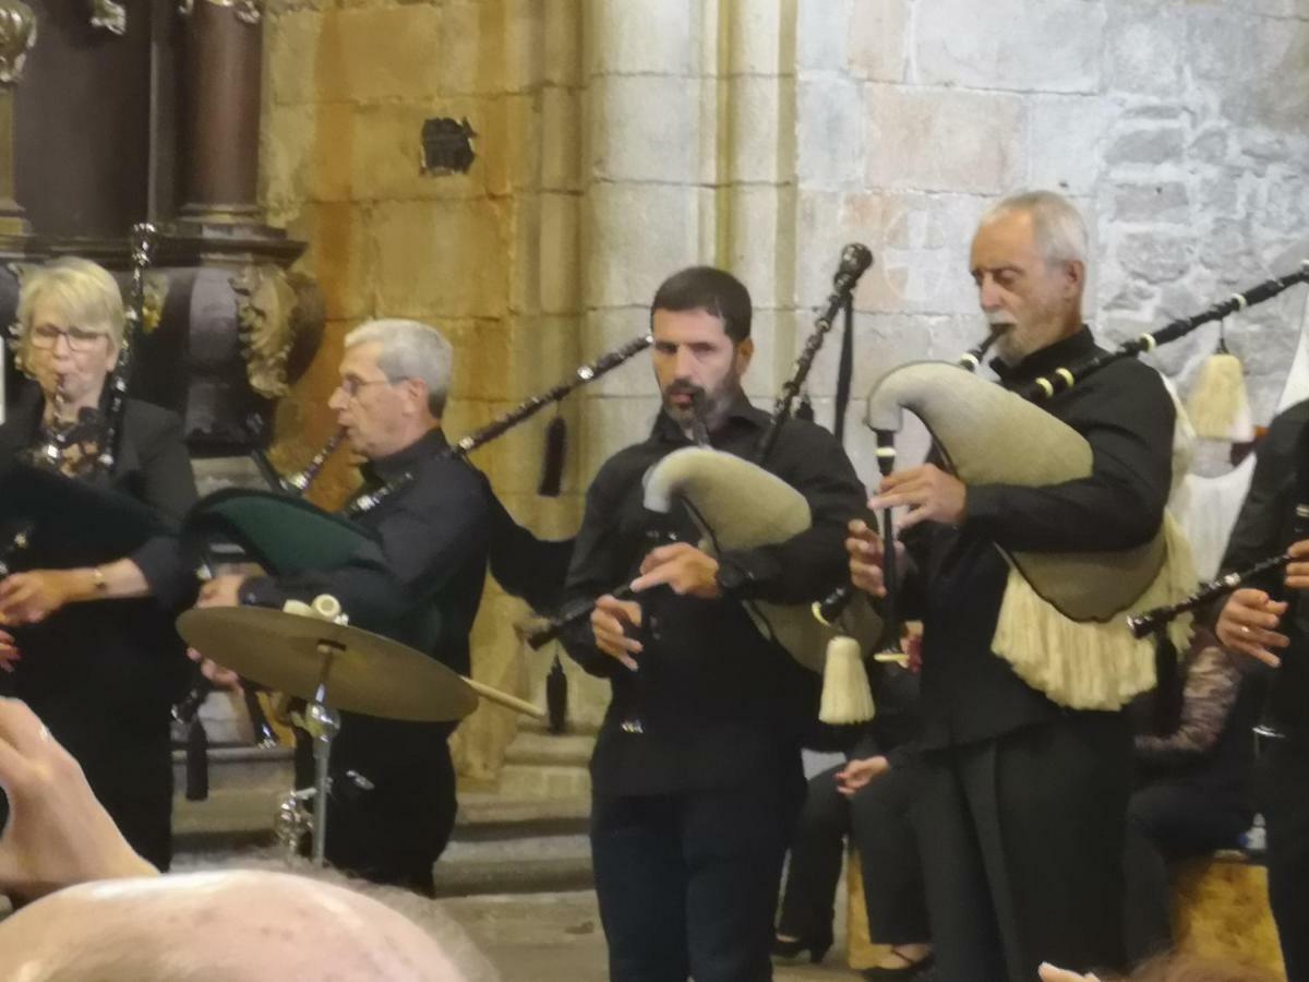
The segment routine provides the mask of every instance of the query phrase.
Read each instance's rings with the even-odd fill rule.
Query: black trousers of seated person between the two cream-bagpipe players
[[[918,839],[908,821],[912,766],[888,771],[847,799],[833,767],[809,780],[796,837],[778,934],[831,937],[833,897],[844,860],[844,838],[859,850],[872,936],[884,944],[922,944],[931,936],[923,898]]]

